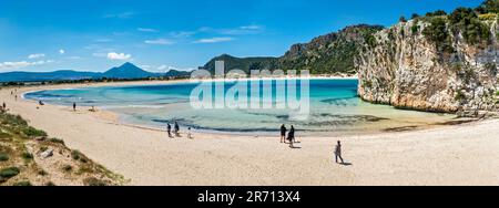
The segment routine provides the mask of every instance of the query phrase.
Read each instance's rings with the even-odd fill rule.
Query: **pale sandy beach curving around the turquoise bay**
[[[24,92],[116,84],[27,86]],[[10,113],[62,138],[73,149],[130,179],[129,185],[499,185],[499,121],[438,128],[301,137],[289,148],[276,137],[194,134],[171,139],[166,133],[123,125],[110,112],[44,105],[0,91]],[[277,133],[276,133],[277,135]],[[336,141],[344,158],[333,160]]]

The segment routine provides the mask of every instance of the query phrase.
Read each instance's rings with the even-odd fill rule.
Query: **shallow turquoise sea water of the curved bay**
[[[301,82],[297,83],[297,96],[301,98]],[[224,93],[234,84],[224,83]],[[261,89],[272,87],[272,95],[264,94],[262,90],[253,98],[272,96],[269,101],[276,105],[284,102],[276,92],[277,86],[283,84],[281,81],[252,82],[248,90],[256,85]],[[191,106],[190,96],[200,83],[39,91],[28,93],[24,97],[57,105],[70,106],[75,102],[79,106],[96,106],[118,113],[124,123],[143,126],[164,128],[166,123],[177,121],[183,128],[252,135],[275,134],[282,124],[294,125],[301,134],[338,135],[424,126],[452,117],[363,102],[357,96],[357,80],[309,80],[310,113],[306,119],[293,118],[289,108],[195,110]],[[217,94],[213,100],[220,96],[224,94]],[[248,102],[251,100],[252,96]]]

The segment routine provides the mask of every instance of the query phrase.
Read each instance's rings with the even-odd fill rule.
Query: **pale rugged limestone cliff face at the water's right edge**
[[[468,44],[450,32],[442,52],[421,31],[429,22],[409,21],[377,32],[356,59],[361,98],[397,107],[435,111],[497,111],[498,22],[486,44]]]

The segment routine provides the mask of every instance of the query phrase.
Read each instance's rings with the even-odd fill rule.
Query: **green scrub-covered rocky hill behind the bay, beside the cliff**
[[[225,72],[234,69],[251,70],[309,70],[312,74],[355,74],[354,58],[373,34],[383,30],[379,25],[347,27],[313,39],[308,43],[294,44],[281,58],[234,58],[227,54],[212,59],[204,65],[215,71],[215,61],[225,61]]]

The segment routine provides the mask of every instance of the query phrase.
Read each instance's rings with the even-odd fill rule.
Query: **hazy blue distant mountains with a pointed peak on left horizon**
[[[77,72],[77,71],[54,71],[54,72],[7,72],[0,73],[0,82],[48,82],[48,81],[78,81],[98,79],[121,79],[135,80],[145,77],[177,77],[189,76],[191,72],[172,70],[167,73],[152,73],[144,71],[132,63],[124,63],[104,73],[99,72]]]

